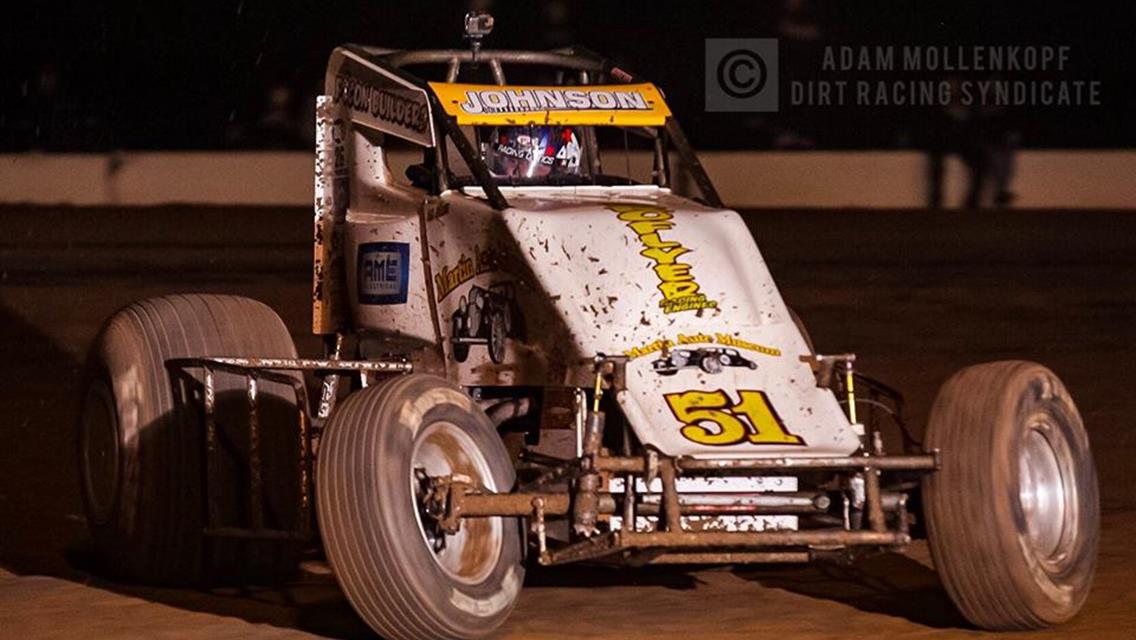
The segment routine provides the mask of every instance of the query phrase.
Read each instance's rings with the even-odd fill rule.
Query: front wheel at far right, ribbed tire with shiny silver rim
[[[928,540],[963,616],[989,630],[1066,622],[1096,567],[1096,471],[1080,415],[1042,365],[987,363],[939,390],[924,481]]]

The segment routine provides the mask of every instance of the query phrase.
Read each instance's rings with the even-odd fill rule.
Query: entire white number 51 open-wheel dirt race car
[[[527,563],[843,562],[926,531],[975,625],[1077,613],[1097,485],[1052,372],[964,368],[885,452],[899,394],[813,352],[662,93],[469,26],[469,50],[331,56],[320,358],[245,298],[108,321],[80,426],[108,571],[267,580],[314,554],[382,635],[476,638]],[[653,366],[679,352],[726,360]]]

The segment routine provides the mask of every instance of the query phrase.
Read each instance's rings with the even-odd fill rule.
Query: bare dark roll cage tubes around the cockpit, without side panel
[[[479,51],[476,56],[473,51],[463,49],[402,51],[359,44],[344,44],[342,49],[351,51],[371,64],[378,65],[385,70],[425,90],[431,102],[431,110],[434,115],[436,128],[453,141],[453,146],[458,151],[458,155],[461,156],[461,159],[465,160],[469,171],[473,173],[474,178],[485,191],[485,197],[488,200],[490,206],[498,210],[508,208],[509,202],[501,193],[496,181],[493,180],[493,175],[490,173],[488,167],[485,166],[485,160],[482,159],[473,143],[470,143],[469,139],[466,138],[466,134],[461,131],[457,119],[446,114],[442,108],[441,102],[438,102],[437,97],[431,90],[429,85],[418,76],[407,72],[403,67],[415,65],[446,65],[445,82],[454,82],[461,72],[462,66],[473,67],[485,64],[488,65],[490,72],[493,74],[493,80],[499,85],[506,84],[504,69],[501,66],[502,63],[509,65],[544,66],[559,70],[579,72],[580,84],[594,84],[593,80],[603,77],[613,77],[623,83],[646,82],[640,76],[617,68],[599,55],[582,48],[557,49],[552,51],[484,50]],[[588,74],[595,75],[590,76]],[[683,133],[682,127],[678,125],[678,120],[675,119],[674,116],[667,117],[666,132],[678,155],[679,161],[682,161],[682,164],[686,167],[691,178],[698,185],[703,201],[711,207],[721,207],[721,198],[718,197],[718,191],[715,189],[713,183],[710,182],[710,176],[707,175],[705,169],[702,167],[702,163],[699,161],[698,156],[694,155],[694,151],[691,149],[690,142],[686,139],[686,134]],[[660,150],[661,140],[658,135],[652,135],[652,138],[655,141],[657,151]],[[594,136],[590,136],[588,147],[592,161],[595,163],[598,158],[598,149]],[[441,142],[436,142],[435,149],[437,150],[435,152],[437,188],[441,192],[448,189],[445,164],[446,149],[445,144]],[[665,169],[667,163],[666,150],[661,150],[663,151],[661,153],[661,161],[665,163],[665,165],[663,167],[657,167],[657,169]]]

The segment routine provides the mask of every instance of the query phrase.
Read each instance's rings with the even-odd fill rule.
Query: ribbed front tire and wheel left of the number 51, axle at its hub
[[[488,417],[452,383],[411,374],[344,399],[320,442],[317,508],[348,600],[384,638],[482,638],[524,580],[519,518],[471,518],[454,535],[420,513],[416,468],[499,492],[515,481]]]

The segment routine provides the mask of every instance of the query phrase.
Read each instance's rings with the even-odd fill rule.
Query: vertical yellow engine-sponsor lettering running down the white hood
[[[705,293],[700,293],[699,283],[691,273],[691,265],[680,263],[691,249],[683,247],[677,240],[666,240],[659,232],[675,227],[674,214],[669,209],[642,205],[610,205],[608,207],[619,214],[619,219],[635,233],[643,250],[640,255],[654,263],[654,274],[659,276],[659,291],[662,300],[659,306],[662,313],[699,311],[718,308],[717,300],[710,300]]]

